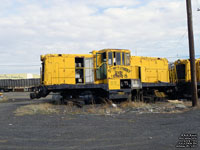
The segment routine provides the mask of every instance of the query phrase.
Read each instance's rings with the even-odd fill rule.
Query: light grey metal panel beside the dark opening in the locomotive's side
[[[93,83],[94,82],[94,65],[93,58],[85,58],[84,60],[85,66],[85,83]]]

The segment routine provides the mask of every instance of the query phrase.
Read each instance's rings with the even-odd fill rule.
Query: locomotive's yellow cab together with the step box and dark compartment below
[[[93,51],[93,55],[96,70],[95,83],[107,84],[111,99],[127,97],[133,88],[141,88],[141,83],[135,75],[136,69],[130,65],[129,50],[103,49]],[[115,95],[115,98],[112,95]]]

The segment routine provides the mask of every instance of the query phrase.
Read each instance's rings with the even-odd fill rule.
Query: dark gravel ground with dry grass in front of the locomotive
[[[180,149],[181,135],[200,135],[200,110],[189,102],[185,108],[166,102],[76,108],[58,105],[51,96],[29,100],[26,92],[4,98],[0,150],[172,150]]]

